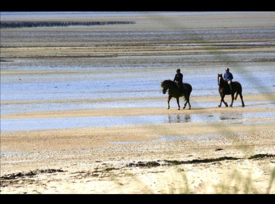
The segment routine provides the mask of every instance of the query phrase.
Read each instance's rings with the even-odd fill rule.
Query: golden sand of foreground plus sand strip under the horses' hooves
[[[211,115],[226,108],[111,109],[55,114],[56,117],[60,114],[73,117],[76,114],[146,115],[193,111]],[[232,112],[275,111],[264,107],[227,109]],[[47,115],[52,117],[54,114],[10,117]],[[246,123],[234,124],[225,120],[1,131],[1,152],[21,152],[1,154],[1,194],[273,194],[274,117],[253,118]],[[250,187],[245,191],[243,186],[248,183]]]

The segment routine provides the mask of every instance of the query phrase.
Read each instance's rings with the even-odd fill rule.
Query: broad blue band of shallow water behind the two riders
[[[1,101],[161,97],[161,81],[173,80],[174,72],[174,69],[137,71],[129,68],[108,73],[5,74],[0,76],[0,97]],[[193,87],[191,95],[219,95],[216,75],[220,72],[220,68],[183,69],[183,81]],[[273,67],[251,67],[232,72],[234,80],[242,84],[244,96],[275,92]],[[201,73],[204,73],[203,77]]]

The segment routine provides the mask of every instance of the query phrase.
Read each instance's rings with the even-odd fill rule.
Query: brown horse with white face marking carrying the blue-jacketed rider
[[[218,74],[218,85],[219,85],[219,93],[221,95],[221,103],[218,105],[219,107],[221,107],[222,102],[224,102],[224,97],[225,95],[231,95],[231,104],[229,105],[230,107],[233,104],[233,100],[237,99],[238,94],[241,97],[241,103],[242,106],[244,107],[244,102],[243,102],[243,95],[241,94],[242,92],[242,87],[241,84],[238,81],[232,81],[231,82],[231,87],[232,87],[232,92],[230,92],[230,88],[229,88],[229,84],[226,80],[224,80],[224,78],[222,77],[222,74]],[[234,98],[234,94],[237,92],[235,98]],[[224,105],[226,107],[228,107],[227,103],[224,102]]]

